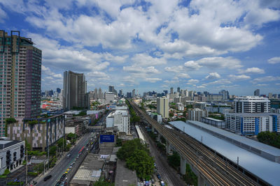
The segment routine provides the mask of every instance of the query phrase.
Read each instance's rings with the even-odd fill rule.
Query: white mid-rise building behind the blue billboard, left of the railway
[[[130,134],[130,114],[127,110],[112,111],[106,118],[106,127],[118,127],[119,132]]]

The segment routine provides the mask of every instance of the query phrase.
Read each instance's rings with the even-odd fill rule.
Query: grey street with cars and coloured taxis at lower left
[[[87,140],[89,140],[90,137],[91,137],[91,133],[84,134],[84,136],[82,137],[82,139],[80,139],[78,144],[76,144],[76,146],[69,151],[69,153],[71,154],[71,157],[69,159],[67,159],[66,157],[63,157],[63,160],[61,160],[57,165],[55,165],[55,167],[52,169],[52,171],[50,173],[45,175],[45,176],[52,175],[52,178],[50,178],[47,181],[44,181],[42,179],[40,182],[38,182],[37,185],[55,185],[57,182],[57,179],[59,179],[60,176],[62,176],[64,171],[69,167],[69,164],[71,164],[71,162],[73,162],[73,160],[78,155],[78,152],[80,151],[80,149],[83,148],[83,146],[85,146]],[[44,178],[45,178],[45,176],[44,176]]]

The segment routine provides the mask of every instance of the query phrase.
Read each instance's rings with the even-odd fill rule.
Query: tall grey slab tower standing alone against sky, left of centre
[[[73,107],[85,107],[86,84],[83,73],[79,74],[70,70],[64,72],[63,108],[65,110],[72,109]]]

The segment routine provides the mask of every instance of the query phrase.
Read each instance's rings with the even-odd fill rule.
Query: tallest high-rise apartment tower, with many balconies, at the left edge
[[[20,31],[0,31],[0,137],[6,118],[40,114],[42,52]]]

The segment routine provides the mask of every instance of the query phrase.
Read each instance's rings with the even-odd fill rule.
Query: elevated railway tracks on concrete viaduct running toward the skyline
[[[211,150],[208,150],[195,139],[186,137],[186,135],[180,132],[167,129],[154,121],[146,112],[139,109],[131,101],[130,104],[142,119],[144,118],[153,125],[167,141],[171,141],[174,148],[212,185],[258,185],[258,183],[255,183],[255,181],[240,173],[234,167],[227,166],[220,157],[217,157]],[[203,158],[200,158],[200,154]]]

